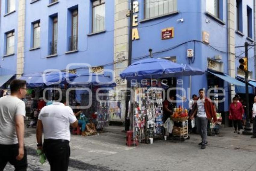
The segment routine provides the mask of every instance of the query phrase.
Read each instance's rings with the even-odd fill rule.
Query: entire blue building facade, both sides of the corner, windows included
[[[8,0],[3,0],[1,4],[0,39],[3,43],[0,46],[0,65],[4,70],[1,75],[16,73],[19,31],[24,32],[24,74],[46,69],[64,70],[70,63],[80,63],[70,68],[76,69],[78,74],[85,70],[81,63],[114,70],[114,44],[117,41],[114,40],[115,11],[124,6],[122,15],[126,15],[128,0],[24,2],[24,29],[18,28],[19,1],[15,1],[11,11],[8,11]],[[243,45],[245,41],[254,43],[255,9],[253,0],[236,2],[231,2],[230,7],[227,0],[135,1],[133,29],[138,32],[135,30],[133,34],[132,62],[148,57],[148,49],[151,48],[154,58],[173,60],[204,71],[211,69],[232,77],[241,75],[238,59],[244,55],[244,49],[235,46]],[[104,8],[101,6],[98,9],[101,12],[95,15],[94,7],[101,4]],[[234,16],[230,17],[230,13]],[[95,28],[95,17],[104,23],[103,26],[98,23],[100,26]],[[232,34],[230,28],[233,29]],[[169,31],[171,36],[164,37],[165,31]],[[12,32],[13,53],[7,54],[7,38]],[[193,50],[192,56],[188,57],[188,50]],[[254,71],[254,55],[252,47],[248,54],[250,71]],[[250,75],[255,78],[254,72]],[[233,91],[228,82],[209,73],[192,76],[191,81],[189,77],[184,77],[183,85],[176,86],[186,89],[188,99],[192,94],[198,94],[200,88],[224,87],[226,96]],[[181,95],[179,91],[177,93]],[[229,102],[226,98],[220,104],[220,110],[228,111]]]

